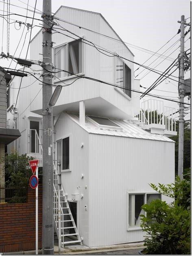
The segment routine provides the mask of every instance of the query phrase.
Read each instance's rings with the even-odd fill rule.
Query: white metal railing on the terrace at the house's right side
[[[143,125],[164,125],[166,131],[176,131],[175,108],[165,107],[163,101],[149,99],[142,102],[136,117]]]

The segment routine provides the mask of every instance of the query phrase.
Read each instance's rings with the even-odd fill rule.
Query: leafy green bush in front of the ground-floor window
[[[147,233],[146,254],[190,254],[190,180],[155,186],[155,191],[174,199],[170,204],[156,199],[142,206],[142,230]]]

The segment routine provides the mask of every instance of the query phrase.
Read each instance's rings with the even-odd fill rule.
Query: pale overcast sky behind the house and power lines
[[[24,2],[24,3],[22,3]],[[17,13],[21,15],[26,15],[26,9],[22,9],[20,7],[26,8],[26,4],[28,0],[10,0],[10,4],[14,4],[15,6],[10,6],[10,12]],[[5,4],[4,4],[5,3]],[[42,11],[42,0],[37,0],[36,10]],[[35,0],[29,0],[28,3],[31,7],[29,9],[33,10],[35,7]],[[118,33],[121,39],[124,42],[129,44],[133,44],[134,46],[139,46],[145,48],[147,50],[151,50],[156,52],[161,46],[163,46],[166,42],[169,41],[171,37],[173,37],[179,27],[180,24],[177,22],[181,20],[181,15],[185,15],[185,18],[190,17],[190,0],[52,0],[52,12],[54,13],[59,9],[61,5],[74,7],[79,9],[84,9],[88,11],[94,11],[101,13],[104,18],[109,22],[112,28]],[[0,14],[3,14],[3,6],[6,14],[7,12],[7,0],[3,2],[0,0]],[[33,16],[33,12],[28,12],[28,16]],[[35,14],[35,18],[41,19],[40,14]],[[64,18],[64,17],[63,17]],[[25,18],[20,16],[11,15],[10,19],[25,21]],[[14,20],[10,20],[10,22],[14,22]],[[31,23],[31,19],[27,19],[28,23]],[[69,20],[70,22],[70,20]],[[187,20],[190,22],[190,19]],[[39,25],[39,21],[34,21],[33,24]],[[0,26],[3,27],[3,18],[0,18]],[[10,37],[9,37],[9,54],[13,55],[17,44],[20,40],[23,26],[21,26],[20,30],[18,29],[19,24],[13,23],[10,24]],[[189,28],[186,27],[185,31]],[[34,27],[32,30],[32,37],[39,31],[38,27]],[[24,42],[24,36],[26,34],[26,29],[23,34],[23,38],[21,40],[20,46],[17,49],[15,57],[18,57],[21,52],[21,48]],[[185,37],[187,40],[190,37],[190,33]],[[176,35],[166,46],[164,46],[158,53],[162,54],[166,51],[172,44],[174,44],[180,38],[180,34]],[[24,48],[22,50],[22,54],[20,57],[26,57],[26,50],[29,42],[29,33],[26,35],[26,42],[24,44]],[[164,55],[168,56],[172,53],[176,48],[174,53],[170,55],[171,58],[176,59],[179,55],[179,44],[177,44],[170,48]],[[131,46],[128,46],[130,50],[135,55],[135,61],[138,63],[143,63],[151,57],[150,54],[135,49]],[[190,48],[190,39],[185,43],[185,50]],[[4,33],[3,33],[3,48],[2,48],[2,34],[0,35],[0,52],[3,51],[7,54],[7,22],[4,20]],[[28,55],[29,56],[29,55]],[[157,57],[153,56],[149,61],[147,61],[144,65],[148,66],[152,61],[154,61]],[[158,58],[150,67],[156,66],[163,59]],[[8,67],[10,61],[7,59],[0,59],[0,66]],[[155,69],[164,71],[171,64],[171,61],[165,60],[160,65],[158,65]],[[20,66],[17,66],[20,67]],[[15,68],[15,63],[13,62],[11,68]],[[135,69],[138,66],[135,66]],[[143,69],[140,68],[135,75],[137,75]],[[146,74],[147,70],[144,70],[140,74],[138,78],[142,78]],[[178,71],[174,73],[175,76],[178,76]],[[158,74],[154,72],[150,72],[146,77],[142,78],[140,84],[146,88],[148,88],[157,78]],[[185,74],[185,79],[190,78],[190,72]],[[175,78],[173,78],[175,79]],[[177,80],[177,79],[176,79]],[[166,97],[170,97],[174,100],[178,100],[178,90],[177,90],[177,82],[168,79],[167,82],[163,82],[155,88],[157,90],[151,91],[152,94],[162,95]],[[145,89],[140,88],[141,91]],[[163,92],[159,91],[163,90]],[[166,91],[166,92],[165,92]],[[170,91],[170,92],[168,92]],[[145,100],[148,97],[144,98]],[[190,103],[187,97],[185,97],[185,102]],[[170,101],[164,101],[164,104],[170,107],[175,107],[176,110],[179,108],[177,103],[173,103]],[[179,116],[177,114],[177,116]],[[185,119],[190,119],[190,115],[188,114]]]

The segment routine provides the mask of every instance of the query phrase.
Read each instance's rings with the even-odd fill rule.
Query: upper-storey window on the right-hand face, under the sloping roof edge
[[[131,98],[131,69],[119,58],[116,58],[116,84]]]

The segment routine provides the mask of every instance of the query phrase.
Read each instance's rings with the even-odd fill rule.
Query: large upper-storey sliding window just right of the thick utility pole
[[[75,40],[54,48],[55,72],[66,70],[74,74],[83,72],[83,44],[82,40]],[[57,78],[63,79],[73,74],[61,71],[55,74]]]

